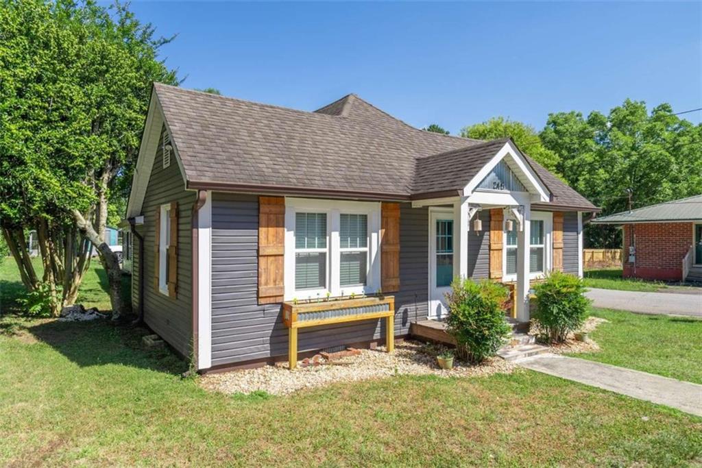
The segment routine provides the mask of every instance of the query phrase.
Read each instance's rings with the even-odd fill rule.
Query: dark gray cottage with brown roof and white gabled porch
[[[512,283],[527,321],[531,280],[582,274],[596,210],[510,139],[420,131],[356,95],[303,112],[157,83],[133,305],[201,371],[390,343],[445,316],[456,276]]]

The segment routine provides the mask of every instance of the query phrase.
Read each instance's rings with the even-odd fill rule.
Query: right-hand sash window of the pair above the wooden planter
[[[366,286],[368,215],[339,215],[339,285]]]

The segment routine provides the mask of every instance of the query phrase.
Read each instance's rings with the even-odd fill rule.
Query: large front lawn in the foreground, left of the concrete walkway
[[[0,319],[0,465],[681,466],[702,418],[519,370],[205,392],[145,330]],[[648,417],[643,420],[642,417]]]

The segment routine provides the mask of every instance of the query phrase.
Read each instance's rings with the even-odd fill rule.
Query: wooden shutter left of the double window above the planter
[[[258,197],[258,303],[283,302],[285,199]]]

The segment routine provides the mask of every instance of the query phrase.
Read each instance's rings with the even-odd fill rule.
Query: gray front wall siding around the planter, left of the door
[[[395,333],[427,314],[427,209],[402,206],[400,281],[395,295]],[[279,305],[258,305],[258,198],[213,194],[212,205],[212,364],[284,356],[288,330]],[[384,321],[335,324],[298,333],[298,349],[310,351],[380,339]]]

